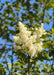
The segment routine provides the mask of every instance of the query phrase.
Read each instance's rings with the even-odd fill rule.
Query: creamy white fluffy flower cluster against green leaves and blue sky
[[[43,23],[41,23],[41,27],[35,29],[33,35],[31,35],[32,31],[29,31],[23,23],[19,22],[18,25],[20,32],[18,33],[18,36],[14,36],[13,38],[14,42],[19,43],[20,45],[14,45],[14,49],[21,49],[22,52],[26,52],[31,56],[37,56],[37,53],[42,50],[43,45],[43,39],[40,38],[45,34]]]

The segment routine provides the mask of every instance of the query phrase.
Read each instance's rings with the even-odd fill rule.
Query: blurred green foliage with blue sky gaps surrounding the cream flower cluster
[[[54,75],[54,1],[6,0],[3,3],[0,0],[0,11],[0,37],[3,41],[0,44],[0,75]],[[42,36],[44,50],[38,57],[31,59],[20,51],[13,51],[13,36],[19,32],[18,21],[25,23],[30,30],[41,23],[49,27],[52,21],[52,29],[46,30],[47,34]]]

